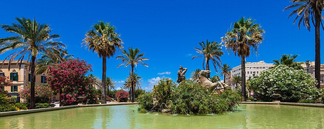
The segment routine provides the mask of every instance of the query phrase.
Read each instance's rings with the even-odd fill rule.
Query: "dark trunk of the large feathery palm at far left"
[[[31,74],[31,82],[30,82],[30,107],[29,109],[35,109],[35,56],[31,56],[31,64],[30,64],[30,74]]]

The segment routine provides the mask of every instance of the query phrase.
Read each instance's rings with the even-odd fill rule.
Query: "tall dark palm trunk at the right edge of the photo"
[[[315,12],[315,79],[317,81],[316,88],[320,88],[320,67],[321,67],[321,58],[320,58],[320,39],[319,39],[319,29],[321,22],[321,7],[318,8],[319,12]]]

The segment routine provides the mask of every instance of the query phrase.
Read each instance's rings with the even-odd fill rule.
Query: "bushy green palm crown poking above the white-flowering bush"
[[[304,69],[303,66],[301,66],[301,64],[304,64],[304,62],[295,62],[295,58],[297,57],[298,55],[281,55],[280,57],[280,60],[272,60],[274,63],[273,63],[273,67],[270,67],[270,68],[274,68],[278,65],[286,65],[288,67],[292,67],[296,70],[299,70],[299,69]]]

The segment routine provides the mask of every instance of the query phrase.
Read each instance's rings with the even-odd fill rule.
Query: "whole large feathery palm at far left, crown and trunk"
[[[27,57],[27,61],[30,59],[30,108],[35,109],[35,67],[37,62],[37,56],[39,53],[53,54],[53,51],[59,48],[65,48],[65,45],[60,42],[53,41],[53,39],[60,38],[60,35],[50,34],[52,29],[50,25],[39,24],[35,19],[29,18],[15,18],[18,23],[12,23],[12,25],[0,25],[6,32],[15,33],[17,35],[12,37],[6,37],[0,39],[0,54],[3,54],[10,50],[17,50],[5,58],[9,58],[8,69],[10,64],[17,56],[20,55],[17,65],[21,66],[24,57]],[[2,68],[5,60],[2,62],[0,68]]]

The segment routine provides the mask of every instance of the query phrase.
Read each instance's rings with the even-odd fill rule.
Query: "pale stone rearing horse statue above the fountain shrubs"
[[[207,78],[207,74],[210,74],[212,71],[209,70],[201,70],[198,73],[198,79],[197,82],[202,84],[204,87],[206,87],[208,89],[208,91],[213,92],[213,90],[219,86],[218,89],[220,89],[221,92],[224,91],[225,87],[228,87],[227,84],[223,83],[223,82],[216,82],[216,83],[212,83],[208,78]]]

